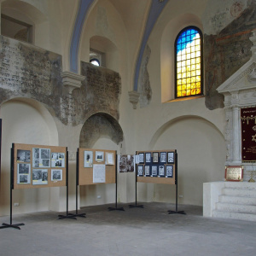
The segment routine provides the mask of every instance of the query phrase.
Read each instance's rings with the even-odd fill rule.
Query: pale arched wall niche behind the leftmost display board
[[[10,148],[12,143],[58,145],[55,121],[43,104],[32,99],[15,98],[4,102],[0,108],[3,120],[2,173],[0,216],[9,214]],[[55,188],[54,188],[55,189]],[[14,213],[49,210],[50,189],[15,189],[13,202],[19,207]]]

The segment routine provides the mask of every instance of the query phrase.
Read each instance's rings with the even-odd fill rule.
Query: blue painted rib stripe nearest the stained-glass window
[[[148,13],[148,20],[147,20],[147,24],[145,27],[141,48],[140,48],[139,54],[137,56],[137,64],[136,64],[136,68],[135,68],[134,85],[133,85],[133,90],[135,90],[135,91],[137,91],[140,67],[142,65],[143,53],[144,53],[145,47],[147,45],[148,38],[150,36],[150,33],[152,32],[152,29],[154,27],[156,20],[158,19],[162,9],[164,9],[164,7],[166,6],[167,2],[168,2],[167,0],[162,3],[160,3],[159,0],[152,0],[151,7],[150,7],[150,10]]]

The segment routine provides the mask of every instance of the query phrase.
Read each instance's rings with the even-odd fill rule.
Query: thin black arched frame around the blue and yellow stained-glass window
[[[189,29],[194,29],[196,32],[199,32],[200,38],[201,38],[201,93],[200,94],[195,94],[195,95],[189,95],[189,96],[177,96],[177,40],[178,38],[182,35],[183,32],[189,30]],[[203,34],[201,32],[201,29],[197,26],[186,26],[184,27],[180,32],[178,32],[177,37],[175,39],[174,43],[174,78],[175,78],[175,90],[174,90],[174,99],[186,99],[186,98],[191,98],[191,97],[196,97],[196,96],[203,96],[204,95],[204,73],[203,73]]]

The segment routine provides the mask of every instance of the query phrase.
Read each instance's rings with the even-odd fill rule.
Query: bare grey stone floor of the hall
[[[57,212],[13,216],[20,230],[0,230],[1,256],[256,255],[256,223],[202,217],[202,208],[144,203],[144,208],[108,211],[84,207],[86,218],[58,219]],[[9,224],[9,216],[0,217]]]

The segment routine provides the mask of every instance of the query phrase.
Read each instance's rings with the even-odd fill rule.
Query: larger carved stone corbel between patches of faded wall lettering
[[[84,76],[68,71],[61,73],[61,78],[65,94],[72,94],[74,89],[81,87],[85,79]]]

